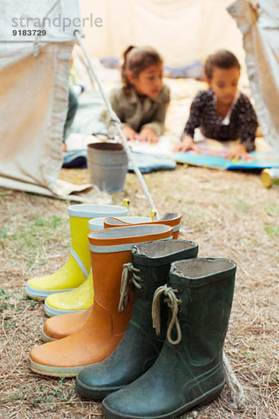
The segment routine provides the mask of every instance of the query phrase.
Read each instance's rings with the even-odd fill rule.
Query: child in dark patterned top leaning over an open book
[[[255,149],[257,116],[248,97],[237,89],[238,59],[232,52],[219,50],[206,60],[204,73],[209,89],[195,96],[177,151],[201,152],[193,140],[195,128],[199,127],[206,138],[221,142],[240,139],[227,158],[249,160],[248,152]]]

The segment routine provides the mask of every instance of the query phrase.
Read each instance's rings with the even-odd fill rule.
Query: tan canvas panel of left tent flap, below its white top
[[[0,44],[1,46],[1,44]],[[38,58],[32,45],[18,61],[0,68],[0,184],[5,178],[52,190],[59,176],[61,140],[68,107],[69,59],[73,43],[47,43]]]

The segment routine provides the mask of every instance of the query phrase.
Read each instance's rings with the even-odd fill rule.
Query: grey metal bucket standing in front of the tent
[[[87,166],[90,182],[101,191],[122,191],[128,170],[128,157],[123,145],[116,142],[87,145]]]

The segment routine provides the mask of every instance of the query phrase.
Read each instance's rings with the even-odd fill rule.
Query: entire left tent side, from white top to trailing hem
[[[63,163],[61,142],[68,111],[69,63],[73,50],[73,27],[52,27],[40,41],[13,38],[13,18],[50,17],[73,20],[80,16],[79,2],[2,1],[0,6],[0,186],[63,199],[90,200],[73,196],[89,184],[78,186],[58,179]],[[58,14],[58,15],[57,15]],[[69,17],[70,16],[70,17]],[[51,28],[50,28],[51,29]],[[59,41],[59,42],[53,42]],[[61,42],[62,41],[62,42]]]

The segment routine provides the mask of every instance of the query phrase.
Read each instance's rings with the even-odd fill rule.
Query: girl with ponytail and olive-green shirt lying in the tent
[[[110,103],[127,140],[157,142],[163,134],[169,88],[163,84],[163,59],[151,47],[128,47],[123,53],[122,87]],[[107,115],[102,119],[107,121]]]

